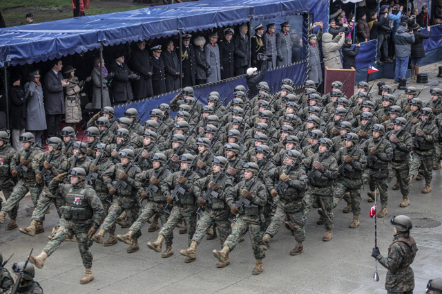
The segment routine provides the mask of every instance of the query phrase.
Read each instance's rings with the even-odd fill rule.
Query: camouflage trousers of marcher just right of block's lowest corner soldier
[[[302,201],[286,201],[277,200],[276,201],[276,212],[271,218],[270,226],[265,231],[272,238],[281,228],[282,224],[287,220],[287,218],[293,223],[295,231],[295,240],[298,242],[305,241],[305,223],[307,223],[307,218],[304,216],[304,210],[302,210]],[[267,219],[266,219],[267,221]]]

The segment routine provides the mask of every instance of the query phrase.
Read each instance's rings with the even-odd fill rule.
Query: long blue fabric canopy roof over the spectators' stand
[[[0,29],[0,67],[308,11],[308,1],[203,0]]]

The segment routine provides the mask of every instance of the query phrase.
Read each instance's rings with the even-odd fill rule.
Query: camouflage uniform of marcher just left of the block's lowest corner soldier
[[[201,197],[206,193],[206,189],[209,188],[209,183],[211,183],[218,174],[211,174],[210,176],[206,176],[205,178],[200,178],[196,181],[195,185],[202,187]],[[218,192],[219,195],[217,198],[210,197],[212,203],[207,203],[204,208],[204,212],[202,212],[202,217],[200,222],[198,223],[198,227],[196,228],[196,232],[192,237],[192,241],[200,244],[204,235],[206,235],[207,230],[213,225],[216,224],[218,228],[218,232],[220,234],[220,243],[221,246],[226,241],[227,237],[231,234],[232,228],[231,223],[229,221],[229,207],[225,202],[225,195],[227,190],[232,187],[232,180],[229,176],[224,176],[218,181]]]

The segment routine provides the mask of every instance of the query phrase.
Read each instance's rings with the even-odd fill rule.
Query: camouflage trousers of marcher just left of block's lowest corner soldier
[[[216,227],[218,228],[218,233],[220,235],[221,246],[224,245],[224,241],[226,241],[227,237],[229,237],[232,232],[229,215],[229,210],[213,210],[211,208],[206,208],[206,210],[204,210],[202,213],[202,217],[200,219],[200,223],[198,223],[195,234],[193,234],[192,241],[200,244],[202,238],[204,235],[206,235],[209,228],[213,225],[213,223],[216,223]]]

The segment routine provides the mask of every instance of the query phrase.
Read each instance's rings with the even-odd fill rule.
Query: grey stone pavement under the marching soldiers
[[[422,66],[421,73],[430,74],[430,82],[439,82],[437,67],[441,64]],[[392,80],[385,80],[394,86]],[[370,84],[371,85],[371,84]],[[409,86],[414,86],[410,83]],[[421,85],[416,86],[421,89]],[[377,89],[374,86],[374,89]],[[396,91],[396,93],[401,93]],[[396,94],[395,93],[395,94]],[[430,95],[425,89],[420,98],[427,101]],[[410,192],[411,204],[399,208],[401,194],[392,191],[390,185],[388,214],[378,219],[378,247],[381,254],[387,255],[387,248],[393,237],[390,225],[392,215],[407,214],[412,219],[433,219],[442,222],[442,169],[434,171],[432,192],[421,194],[423,181],[414,182]],[[348,228],[352,214],[343,214],[342,201],[335,212],[334,238],[323,242],[323,226],[316,225],[318,214],[313,210],[309,215],[306,231],[307,241],[304,252],[290,256],[289,251],[296,242],[288,230],[281,228],[271,240],[267,257],[263,260],[264,271],[258,276],[251,275],[255,261],[251,252],[250,239],[231,252],[231,265],[216,268],[217,259],[211,251],[220,248],[219,237],[207,241],[205,238],[198,246],[197,259],[191,264],[184,264],[180,249],[187,248],[186,235],[179,235],[175,229],[173,249],[175,254],[162,259],[160,253],[149,250],[147,241],[155,241],[157,232],[149,233],[148,225],[142,229],[140,250],[126,253],[126,244],[119,242],[105,248],[94,244],[93,273],[95,280],[80,285],[79,279],[84,274],[84,267],[76,244],[64,242],[61,247],[46,260],[43,269],[36,270],[36,280],[43,286],[45,293],[337,293],[337,294],[376,294],[386,293],[384,288],[386,270],[378,266],[379,282],[373,281],[374,259],[371,257],[374,247],[374,219],[369,218],[369,209],[373,203],[367,203],[367,189],[363,191],[361,226]],[[20,203],[19,226],[28,226],[32,214],[32,202],[26,197]],[[8,217],[6,219],[8,221]],[[6,232],[5,225],[0,225],[0,251],[3,258],[15,253],[6,266],[10,269],[14,262],[24,261],[34,248],[37,255],[46,246],[47,236],[52,226],[57,223],[55,208],[51,207],[44,223],[46,232],[30,237],[18,230]],[[416,227],[414,220],[414,226]],[[117,234],[126,233],[127,229],[117,226]],[[414,228],[412,235],[416,239],[419,251],[412,264],[416,279],[414,293],[425,293],[429,279],[442,277],[442,226],[436,228]],[[106,235],[107,237],[107,235]]]

